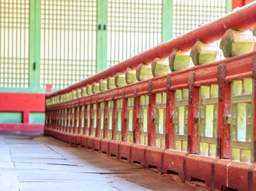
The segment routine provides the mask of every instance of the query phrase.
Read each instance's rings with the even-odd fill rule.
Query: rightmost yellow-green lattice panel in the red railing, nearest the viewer
[[[253,160],[253,87],[252,79],[232,82],[231,95],[231,159]]]

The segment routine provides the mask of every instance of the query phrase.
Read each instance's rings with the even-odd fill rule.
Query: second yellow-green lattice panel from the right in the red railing
[[[199,153],[209,157],[217,154],[218,85],[200,87]]]

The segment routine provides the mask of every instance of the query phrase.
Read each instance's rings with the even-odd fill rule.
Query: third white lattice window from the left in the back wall
[[[162,0],[108,0],[108,67],[162,42]]]

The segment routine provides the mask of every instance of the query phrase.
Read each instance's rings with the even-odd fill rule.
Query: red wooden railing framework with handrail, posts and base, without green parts
[[[173,48],[178,50],[190,50],[197,39],[203,42],[214,42],[225,34],[229,28],[252,29],[256,23],[256,3],[249,4],[238,9],[225,17],[214,20],[179,36],[157,47],[151,48],[118,63],[99,74],[89,77],[81,82],[71,85],[56,93],[47,95],[52,102],[46,106],[46,129],[45,134],[52,135],[57,139],[80,145],[88,149],[97,150],[118,159],[127,159],[130,163],[140,163],[146,167],[156,167],[161,173],[178,173],[181,180],[203,180],[211,190],[222,187],[237,190],[256,189],[256,168],[253,165],[256,159],[256,100],[255,92],[252,92],[252,132],[253,136],[249,144],[252,146],[252,160],[250,163],[241,163],[230,160],[230,122],[231,114],[231,86],[234,80],[252,79],[252,90],[256,89],[256,52],[249,52],[214,63],[195,66],[190,69],[176,71],[160,77],[143,80],[123,87],[116,87],[100,93],[94,93],[71,101],[62,101],[60,95],[70,93],[72,90],[92,85],[101,79],[114,77],[118,72],[124,72],[127,68],[135,69],[140,63],[150,64],[154,58],[167,58]],[[198,115],[200,106],[200,88],[205,85],[218,85],[217,97],[217,148],[215,157],[199,155]],[[188,97],[188,129],[187,129],[187,152],[174,150],[175,148],[175,92],[176,90],[189,89]],[[166,93],[165,100],[165,147],[156,147],[156,95]],[[148,95],[148,144],[140,143],[140,97]],[[133,98],[132,136],[129,142],[127,123],[128,102]],[[250,97],[251,98],[251,97]],[[122,100],[121,110],[121,141],[115,140],[117,101]],[[129,101],[128,101],[129,100]],[[112,116],[112,139],[108,139],[108,104],[113,101]],[[100,134],[100,103],[105,103],[103,136]],[[130,102],[129,102],[130,104]],[[82,116],[82,106],[85,106]],[[89,106],[89,110],[87,109]],[[96,106],[96,108],[94,108]],[[95,109],[95,110],[94,110]],[[88,114],[89,112],[89,114]],[[96,113],[96,132],[94,130],[94,113]],[[88,118],[89,116],[89,118]],[[231,114],[232,118],[232,114]],[[83,120],[83,127],[82,127]],[[78,125],[77,125],[78,122]],[[83,129],[83,133],[81,130]],[[88,130],[88,131],[87,131]],[[89,132],[89,133],[87,133]],[[224,160],[226,159],[226,160]],[[227,160],[228,159],[228,160]]]

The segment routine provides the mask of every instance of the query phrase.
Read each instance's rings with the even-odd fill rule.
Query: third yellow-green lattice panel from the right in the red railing
[[[187,125],[189,117],[189,90],[176,90],[175,92],[175,112],[173,117],[175,135],[174,149],[187,151]]]

